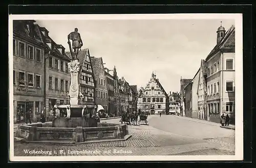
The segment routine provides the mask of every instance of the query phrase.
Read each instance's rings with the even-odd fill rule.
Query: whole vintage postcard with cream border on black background
[[[10,161],[243,160],[242,39],[242,14],[9,15]]]

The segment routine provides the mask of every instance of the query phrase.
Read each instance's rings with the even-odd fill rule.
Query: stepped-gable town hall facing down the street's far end
[[[169,97],[154,73],[145,90],[140,91],[139,99],[141,112],[154,115],[160,112],[166,114],[169,111]]]

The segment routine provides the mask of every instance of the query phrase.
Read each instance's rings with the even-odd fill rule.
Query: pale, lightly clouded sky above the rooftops
[[[152,72],[164,90],[180,91],[180,79],[193,78],[217,41],[217,29],[227,31],[231,19],[147,20],[36,20],[49,36],[69,51],[67,36],[78,28],[91,56],[102,57],[104,66],[117,69],[130,85],[145,87]]]

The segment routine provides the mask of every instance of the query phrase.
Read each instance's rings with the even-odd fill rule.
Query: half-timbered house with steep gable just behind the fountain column
[[[70,52],[66,52],[66,54],[71,58]],[[80,90],[81,97],[79,100],[80,104],[86,104],[92,106],[95,104],[95,77],[92,68],[92,61],[90,57],[89,49],[79,50],[77,58],[79,59],[79,63],[82,65],[80,68]],[[91,107],[90,107],[91,108]]]

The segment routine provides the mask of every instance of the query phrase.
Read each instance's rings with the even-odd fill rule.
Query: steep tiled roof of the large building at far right
[[[234,51],[234,33],[235,27],[234,25],[232,25],[229,28],[229,30],[225,33],[225,36],[221,39],[221,41],[217,43],[214,49],[210,51],[205,60],[207,61],[209,58],[211,58],[212,55],[214,55],[220,50]]]

